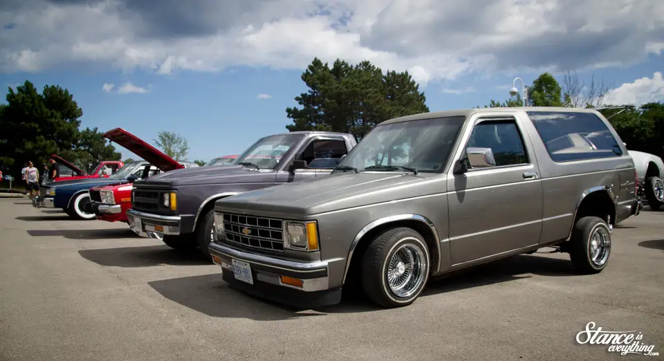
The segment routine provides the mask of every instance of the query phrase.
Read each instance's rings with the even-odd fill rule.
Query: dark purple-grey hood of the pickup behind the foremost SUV
[[[259,179],[271,179],[270,182],[274,182],[275,176],[275,171],[272,169],[258,170],[241,165],[224,165],[223,167],[178,169],[156,174],[146,180],[137,180],[134,184],[136,186],[153,184],[175,187],[178,185],[260,182]]]

